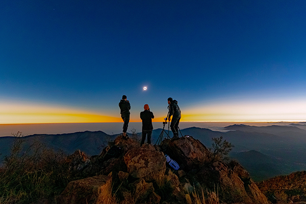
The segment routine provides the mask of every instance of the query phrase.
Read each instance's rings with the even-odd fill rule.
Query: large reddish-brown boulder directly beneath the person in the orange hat
[[[133,148],[124,155],[127,172],[136,179],[153,181],[165,174],[166,158],[150,144]]]

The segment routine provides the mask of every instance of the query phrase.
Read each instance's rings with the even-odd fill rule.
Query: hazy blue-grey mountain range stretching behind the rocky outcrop
[[[212,131],[210,129],[189,127],[181,130],[182,135],[190,135],[198,139],[207,147],[212,147],[212,138],[223,137],[235,147],[230,156],[239,161],[249,171],[254,181],[262,181],[277,175],[285,175],[294,171],[306,170],[306,130],[299,125],[293,126],[249,126],[230,125],[224,127],[227,132]],[[168,130],[162,129],[152,132],[152,144],[167,138]],[[138,138],[141,133],[138,133]],[[172,137],[171,131],[169,131]],[[108,135],[102,131],[77,132],[57,135],[24,136],[26,148],[34,141],[39,141],[55,150],[63,150],[67,155],[76,149],[81,149],[87,155],[100,154],[109,141],[118,135]],[[131,134],[129,134],[132,137]],[[1,160],[9,155],[14,137],[0,137]]]

